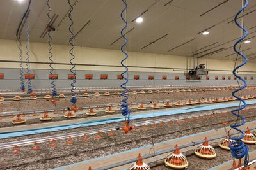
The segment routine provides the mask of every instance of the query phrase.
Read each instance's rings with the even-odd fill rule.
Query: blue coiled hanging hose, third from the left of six
[[[47,25],[50,24],[51,22],[51,17],[50,17],[50,13],[51,13],[51,6],[49,5],[49,0],[47,0],[47,6],[49,8],[48,10],[48,13],[47,13],[47,17],[49,18],[49,22]],[[50,71],[50,74],[52,75],[53,72],[54,72],[54,68],[52,67],[52,64],[53,64],[53,60],[52,60],[52,45],[51,45],[51,41],[52,41],[52,37],[51,37],[51,28],[48,27],[48,37],[49,37],[49,41],[48,41],[48,45],[49,45],[49,50],[48,52],[50,53],[50,57],[49,57],[49,60],[51,61],[51,63],[49,64],[49,67],[51,68],[51,71]],[[56,90],[56,83],[55,83],[55,79],[52,77],[52,81],[51,81],[51,88],[52,88],[52,96],[57,96],[57,90]]]

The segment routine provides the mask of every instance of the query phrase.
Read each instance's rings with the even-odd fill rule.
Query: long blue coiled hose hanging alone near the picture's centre
[[[123,99],[120,101],[121,102],[120,110],[122,111],[122,115],[127,118],[127,122],[129,123],[129,121],[130,121],[130,111],[129,111],[129,104],[127,102],[127,99],[128,99],[128,96],[127,96],[128,89],[126,87],[126,85],[128,83],[128,76],[125,77],[125,74],[128,75],[128,67],[125,66],[125,60],[128,58],[128,54],[127,54],[128,39],[125,36],[126,29],[127,29],[127,19],[126,19],[127,16],[125,16],[125,18],[123,17],[124,13],[126,15],[126,12],[127,12],[127,3],[126,3],[126,0],[122,0],[122,1],[125,4],[125,8],[122,10],[120,16],[121,16],[122,20],[124,21],[125,25],[122,28],[120,33],[121,33],[122,38],[124,38],[124,44],[121,46],[121,51],[122,51],[122,53],[124,53],[125,58],[121,61],[121,64],[125,68],[125,71],[121,74],[121,76],[122,76],[122,78],[124,78],[125,82],[122,83],[122,85],[121,85],[121,88],[124,89],[124,92],[122,92],[122,94],[121,94]],[[126,48],[126,49],[124,49],[124,48]]]

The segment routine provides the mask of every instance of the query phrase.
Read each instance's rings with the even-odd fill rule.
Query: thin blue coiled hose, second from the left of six
[[[26,70],[27,70],[27,74],[28,74],[28,94],[30,94],[31,92],[33,92],[32,90],[32,84],[31,84],[31,78],[30,78],[30,66],[29,66],[29,23],[27,21],[27,28],[26,28],[26,42],[27,42],[27,45],[26,45],[26,55],[27,55],[27,58],[26,58]]]

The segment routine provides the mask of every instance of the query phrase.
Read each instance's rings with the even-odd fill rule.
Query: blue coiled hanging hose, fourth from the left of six
[[[70,85],[71,85],[72,97],[71,97],[71,99],[70,99],[70,102],[75,104],[76,101],[77,101],[77,99],[76,99],[76,85],[75,85],[76,79],[75,79],[75,77],[74,77],[74,76],[76,76],[76,72],[74,71],[74,68],[75,68],[76,65],[73,63],[73,60],[75,59],[75,55],[73,54],[73,49],[74,49],[74,44],[73,44],[74,33],[73,33],[73,31],[72,31],[72,25],[74,24],[74,22],[73,22],[72,17],[71,17],[71,13],[72,13],[72,11],[73,11],[73,6],[72,6],[72,4],[70,4],[70,0],[68,0],[68,4],[69,4],[69,6],[70,6],[70,11],[69,11],[69,13],[68,13],[68,18],[69,18],[70,21],[71,21],[71,24],[70,24],[68,30],[69,30],[70,34],[72,35],[72,36],[70,37],[70,39],[69,39],[69,43],[70,43],[70,45],[72,46],[71,49],[69,50],[69,53],[70,53],[70,55],[72,56],[71,59],[70,59],[70,61],[69,61],[70,64],[72,65],[72,67],[71,67],[71,69],[70,69],[70,72],[72,73],[72,77],[71,77],[72,83],[70,84]]]

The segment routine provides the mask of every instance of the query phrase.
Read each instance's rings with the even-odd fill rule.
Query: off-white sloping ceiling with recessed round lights
[[[19,26],[22,15],[26,11],[29,0],[23,0],[19,3],[17,0],[0,0],[0,38],[1,39],[16,39],[16,31]],[[74,3],[75,0],[72,1]],[[236,24],[230,22],[233,20],[236,12],[241,8],[241,2],[237,0],[229,0],[206,13],[202,17],[200,15],[205,11],[214,8],[225,0],[173,0],[170,4],[164,6],[170,0],[127,0],[128,4],[128,31],[134,28],[127,37],[129,39],[129,50],[135,52],[161,53],[170,55],[191,56],[192,52],[209,46],[195,53],[205,55],[210,52],[225,48],[222,52],[209,55],[216,59],[232,59],[236,58],[231,47],[235,41],[232,39],[239,38],[241,31]],[[52,43],[68,45],[70,33],[68,27],[70,20],[68,17],[61,22],[69,10],[68,0],[50,0],[52,8],[51,15],[56,13],[59,17],[54,22],[53,26],[56,31],[52,32]],[[88,46],[94,48],[107,48],[119,50],[122,45],[122,39],[113,41],[120,37],[120,29],[124,25],[120,18],[120,11],[124,8],[122,0],[80,0],[77,2],[72,13],[74,20],[73,30],[76,33],[88,20],[91,20],[90,25],[84,27],[74,43],[76,46]],[[148,11],[143,14],[144,22],[137,24],[131,22],[138,17],[143,11]],[[249,0],[249,6],[244,11],[244,14],[256,10],[256,1]],[[32,0],[31,13],[29,16],[30,41],[47,43],[47,36],[40,38],[47,23],[46,0]],[[256,11],[244,16],[244,25],[251,33],[248,38],[256,36],[255,22]],[[239,20],[241,21],[241,20]],[[58,27],[57,25],[60,24]],[[209,35],[203,36],[198,32],[215,25],[208,31]],[[22,31],[22,39],[25,39],[25,28]],[[163,39],[152,43],[147,48],[141,49],[148,43],[168,34]],[[187,41],[194,39],[190,43]],[[227,43],[230,41],[229,43]],[[255,60],[256,54],[256,37],[251,39],[252,43],[243,43],[241,49],[244,53]],[[218,43],[216,43],[218,42]],[[186,45],[182,45],[186,43]],[[224,44],[225,43],[225,44]],[[178,48],[176,46],[182,45]],[[168,52],[168,50],[175,48]],[[248,50],[247,50],[248,49]],[[205,52],[203,52],[205,51]],[[250,55],[252,54],[252,55]],[[229,56],[227,56],[229,55]],[[225,57],[227,56],[227,57]]]

